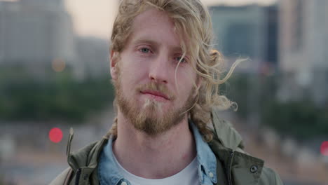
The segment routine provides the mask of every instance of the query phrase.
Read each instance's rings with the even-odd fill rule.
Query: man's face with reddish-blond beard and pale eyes
[[[158,135],[186,118],[196,96],[196,73],[188,55],[177,68],[182,54],[174,23],[153,8],[135,18],[125,48],[112,56],[118,109],[137,130]]]

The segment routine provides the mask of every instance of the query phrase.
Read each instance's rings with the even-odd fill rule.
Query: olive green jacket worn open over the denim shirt
[[[217,184],[223,185],[268,185],[282,184],[277,173],[264,167],[264,161],[242,151],[242,138],[230,123],[219,119],[217,111],[212,111],[214,137],[209,143],[217,157]],[[70,153],[69,137],[67,155],[69,166],[50,185],[95,185],[99,184],[97,163],[100,153],[107,144],[109,135],[99,142],[90,144],[75,153]]]

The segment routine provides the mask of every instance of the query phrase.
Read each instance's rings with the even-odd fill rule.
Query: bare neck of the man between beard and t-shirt
[[[196,144],[187,116],[174,128],[151,137],[136,130],[118,112],[118,137],[113,152],[128,172],[147,179],[162,179],[191,163],[196,157]]]

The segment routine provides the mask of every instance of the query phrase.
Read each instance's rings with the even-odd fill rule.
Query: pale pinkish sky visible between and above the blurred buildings
[[[81,36],[96,36],[109,39],[111,26],[116,15],[116,0],[65,0],[73,17],[74,27]],[[275,0],[202,0],[206,5],[247,3],[271,4]]]

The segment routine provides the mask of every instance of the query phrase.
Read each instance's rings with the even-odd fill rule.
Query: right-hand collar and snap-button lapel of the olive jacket
[[[217,109],[212,110],[212,124],[214,135],[209,145],[226,168],[231,166],[227,175],[231,175],[235,184],[257,184],[264,160],[254,158],[242,150],[242,137],[230,123],[219,118]]]

